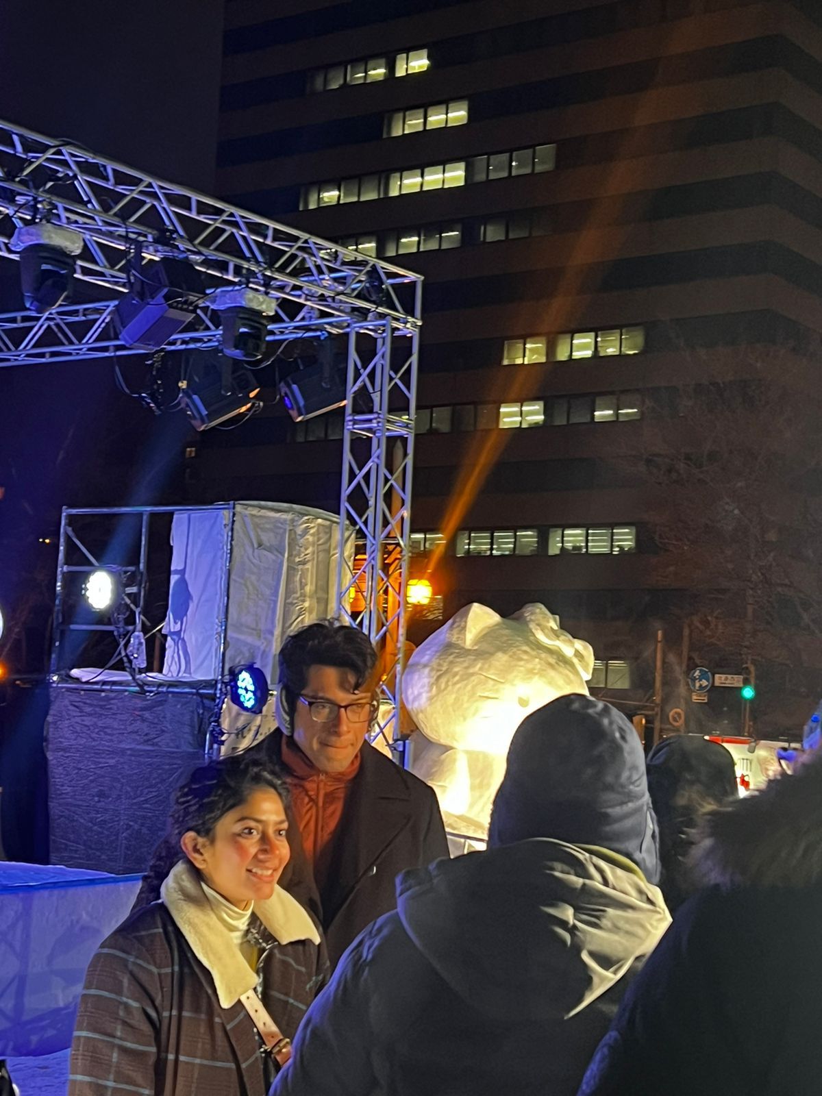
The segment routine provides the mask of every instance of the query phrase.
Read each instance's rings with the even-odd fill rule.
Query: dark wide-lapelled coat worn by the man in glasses
[[[279,767],[282,741],[274,731],[254,750]],[[358,933],[396,907],[400,871],[448,855],[439,804],[427,784],[367,742],[359,756],[322,895],[305,877],[283,884],[322,925],[332,968]]]

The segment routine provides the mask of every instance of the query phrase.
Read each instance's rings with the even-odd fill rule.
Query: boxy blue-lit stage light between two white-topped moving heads
[[[115,320],[126,346],[159,350],[185,327],[205,289],[196,266],[184,259],[163,256],[128,265],[128,293],[117,304]]]

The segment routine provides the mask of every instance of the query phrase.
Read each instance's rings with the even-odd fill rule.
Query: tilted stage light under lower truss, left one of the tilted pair
[[[253,375],[219,351],[183,354],[180,402],[195,430],[210,430],[235,415],[259,411],[263,406],[254,399],[259,391]]]

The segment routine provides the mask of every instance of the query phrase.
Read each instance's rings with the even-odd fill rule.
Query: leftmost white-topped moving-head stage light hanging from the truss
[[[18,228],[11,249],[20,252],[20,283],[30,311],[42,316],[71,299],[75,258],[83,249],[79,232],[39,220]]]

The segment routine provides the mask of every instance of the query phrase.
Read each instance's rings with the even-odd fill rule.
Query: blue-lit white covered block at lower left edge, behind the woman
[[[139,876],[0,864],[0,1058],[71,1044],[85,968],[139,884]]]

